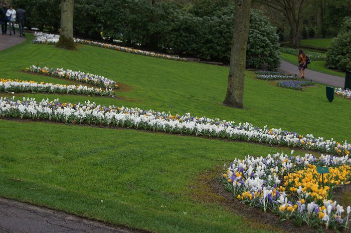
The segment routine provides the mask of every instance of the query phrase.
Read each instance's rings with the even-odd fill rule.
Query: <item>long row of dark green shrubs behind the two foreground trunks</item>
[[[32,27],[58,33],[60,0],[14,2],[24,4]],[[95,40],[102,34],[106,40],[117,39],[130,46],[228,64],[234,16],[230,0],[196,0],[187,5],[152,5],[150,0],[76,0],[74,34]],[[279,67],[276,28],[255,10],[250,16],[247,66]]]

